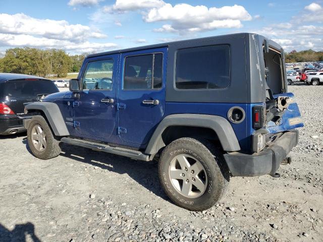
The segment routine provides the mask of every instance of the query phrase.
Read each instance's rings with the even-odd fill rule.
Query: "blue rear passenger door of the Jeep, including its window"
[[[147,144],[165,113],[167,48],[121,54],[118,133],[125,145]]]

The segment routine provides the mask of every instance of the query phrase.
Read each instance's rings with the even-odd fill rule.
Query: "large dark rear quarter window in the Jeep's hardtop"
[[[181,49],[176,53],[178,89],[218,89],[230,84],[230,46]]]

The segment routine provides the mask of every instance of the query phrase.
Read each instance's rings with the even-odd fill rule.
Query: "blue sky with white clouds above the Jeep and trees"
[[[238,32],[287,51],[323,50],[322,23],[322,0],[0,0],[0,54],[24,46],[100,52]]]

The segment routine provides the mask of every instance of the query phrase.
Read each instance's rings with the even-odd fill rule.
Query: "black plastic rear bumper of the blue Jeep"
[[[225,154],[224,157],[233,176],[275,174],[280,163],[297,144],[298,130],[290,130],[259,153],[232,152]]]

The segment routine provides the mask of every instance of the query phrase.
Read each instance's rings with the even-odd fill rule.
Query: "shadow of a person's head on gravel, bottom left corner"
[[[0,241],[1,242],[11,242],[11,241],[19,241],[25,242],[26,236],[29,234],[28,241],[33,242],[41,242],[41,240],[35,234],[35,226],[28,222],[24,224],[16,224],[13,230],[7,229],[0,223]]]

